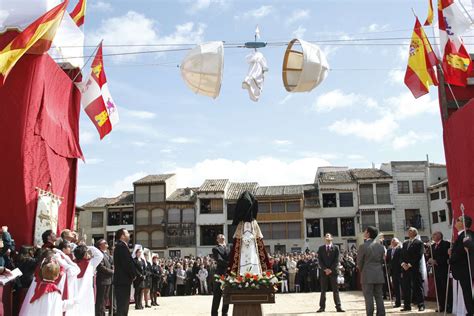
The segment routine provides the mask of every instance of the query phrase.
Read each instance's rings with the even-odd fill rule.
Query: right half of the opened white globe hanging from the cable
[[[298,45],[300,50],[295,50]],[[300,39],[293,39],[283,59],[283,83],[288,92],[309,92],[328,76],[329,64],[321,49]]]

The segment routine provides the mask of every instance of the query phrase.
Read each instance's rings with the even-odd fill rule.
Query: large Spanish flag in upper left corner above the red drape
[[[66,0],[40,16],[0,51],[0,87],[21,56],[49,50],[68,2]]]

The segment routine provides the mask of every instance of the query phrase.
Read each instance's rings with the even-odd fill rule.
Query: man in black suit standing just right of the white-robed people
[[[137,272],[128,248],[128,242],[130,241],[128,231],[124,228],[117,230],[115,241],[113,282],[117,299],[116,316],[126,316],[130,305],[130,288]]]

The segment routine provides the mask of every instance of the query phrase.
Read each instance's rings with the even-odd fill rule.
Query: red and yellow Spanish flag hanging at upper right
[[[405,84],[415,98],[427,94],[430,85],[438,85],[436,72],[433,69],[436,64],[438,64],[438,59],[431,48],[425,31],[421,27],[420,21],[416,18],[405,73]]]

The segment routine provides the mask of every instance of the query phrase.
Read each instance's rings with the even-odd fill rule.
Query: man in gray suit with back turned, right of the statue
[[[385,257],[385,247],[377,240],[378,230],[373,226],[364,232],[365,242],[357,252],[357,266],[361,271],[362,292],[364,293],[365,308],[368,316],[374,314],[374,298],[377,305],[377,316],[385,315],[383,305],[383,284],[385,282],[382,263]]]

